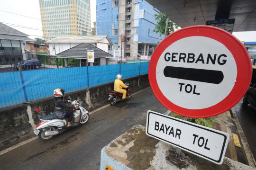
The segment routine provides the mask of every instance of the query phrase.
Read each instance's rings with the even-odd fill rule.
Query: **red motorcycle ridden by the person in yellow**
[[[128,99],[131,97],[131,89],[129,89],[129,84],[125,83],[125,85],[128,86],[128,88],[126,88],[126,99]],[[114,106],[117,102],[122,101],[122,96],[123,93],[119,93],[117,91],[110,91],[108,98],[108,100],[110,101],[110,105]]]

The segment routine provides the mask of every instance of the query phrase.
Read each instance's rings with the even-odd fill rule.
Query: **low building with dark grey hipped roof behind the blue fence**
[[[79,59],[80,66],[85,66],[86,63],[88,63],[87,50],[92,50],[94,52],[93,65],[105,65],[107,63],[106,59],[113,57],[111,54],[101,50],[94,45],[89,43],[82,43],[59,54],[56,54],[55,58],[63,58],[65,61],[65,66],[68,66],[67,59]],[[92,65],[92,63],[90,65]]]

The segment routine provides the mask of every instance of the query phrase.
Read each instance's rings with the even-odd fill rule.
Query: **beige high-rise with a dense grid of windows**
[[[91,34],[90,0],[39,0],[43,35]]]

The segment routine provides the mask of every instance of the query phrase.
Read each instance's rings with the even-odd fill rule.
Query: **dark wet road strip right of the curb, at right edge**
[[[256,158],[256,111],[250,105],[244,106],[242,101],[235,106],[235,110],[253,156]]]

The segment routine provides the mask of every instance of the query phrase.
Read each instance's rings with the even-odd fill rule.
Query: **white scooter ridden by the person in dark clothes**
[[[69,97],[71,100],[71,98]],[[76,100],[70,102],[71,105],[76,106],[78,109],[73,110],[73,123],[72,126],[67,127],[67,120],[55,118],[54,114],[40,117],[41,120],[34,128],[34,134],[42,141],[52,139],[56,134],[61,134],[67,129],[71,129],[81,124],[85,124],[89,120],[89,112],[81,106]],[[40,110],[37,108],[37,112]]]

